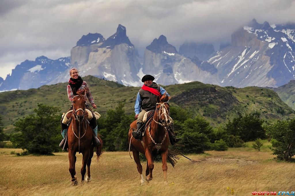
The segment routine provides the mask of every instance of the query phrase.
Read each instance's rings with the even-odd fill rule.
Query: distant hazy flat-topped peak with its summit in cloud
[[[179,54],[189,58],[197,56],[201,60],[207,59],[214,52],[214,46],[209,43],[185,42],[179,47]]]

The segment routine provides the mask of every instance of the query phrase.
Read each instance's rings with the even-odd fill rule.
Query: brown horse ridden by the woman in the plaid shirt
[[[85,103],[86,99],[83,97],[83,92],[77,92],[77,95],[73,97],[73,119],[68,127],[68,152],[69,152],[69,162],[70,167],[69,171],[71,173],[71,182],[73,186],[78,185],[76,177],[76,152],[81,152],[83,155],[82,158],[82,183],[84,182],[84,176],[86,173],[87,165],[87,175],[85,177],[86,182],[91,181],[90,176],[90,164],[91,158],[93,157],[94,146],[92,145],[92,127],[89,124],[89,121],[85,116]],[[93,117],[95,118],[95,117]],[[99,147],[96,147],[97,161],[101,155],[102,140],[98,136],[98,139],[101,143]]]

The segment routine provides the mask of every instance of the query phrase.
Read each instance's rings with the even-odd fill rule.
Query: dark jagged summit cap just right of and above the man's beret
[[[176,48],[168,43],[164,35],[160,35],[158,39],[155,38],[153,42],[146,47],[146,49],[154,53],[164,53],[168,55],[178,53]]]

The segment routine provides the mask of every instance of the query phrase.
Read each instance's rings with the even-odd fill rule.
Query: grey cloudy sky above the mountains
[[[258,23],[295,22],[294,0],[0,0],[0,77],[26,59],[70,56],[82,35],[108,38],[118,24],[140,54],[161,34],[170,44],[211,42]]]

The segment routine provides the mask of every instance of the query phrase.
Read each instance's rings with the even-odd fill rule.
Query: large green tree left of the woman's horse
[[[51,155],[58,152],[60,140],[60,109],[38,104],[31,114],[15,123],[19,133],[11,136],[11,142],[29,154]]]

